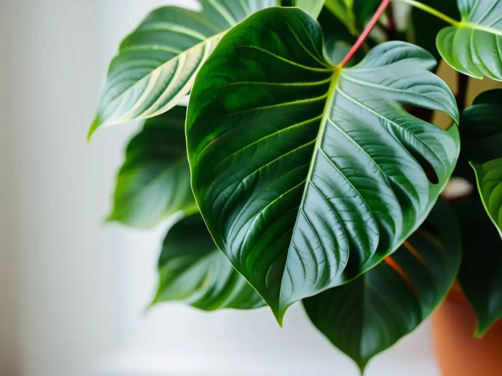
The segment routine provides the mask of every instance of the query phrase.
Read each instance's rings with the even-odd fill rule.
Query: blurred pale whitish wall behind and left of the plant
[[[101,80],[151,9],[194,0],[0,0],[0,375],[355,376],[301,307],[147,310],[163,229],[104,225],[138,124],[99,131]],[[367,376],[438,376],[429,324]]]

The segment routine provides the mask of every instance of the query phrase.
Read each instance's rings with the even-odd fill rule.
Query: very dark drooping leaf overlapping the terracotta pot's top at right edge
[[[458,281],[474,309],[474,334],[482,336],[502,318],[502,241],[478,196],[453,203],[462,232]]]

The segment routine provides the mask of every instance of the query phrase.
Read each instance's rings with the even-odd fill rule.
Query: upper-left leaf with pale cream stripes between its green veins
[[[98,127],[145,119],[174,107],[226,30],[276,0],[199,0],[200,12],[163,7],[120,45],[101,89]]]

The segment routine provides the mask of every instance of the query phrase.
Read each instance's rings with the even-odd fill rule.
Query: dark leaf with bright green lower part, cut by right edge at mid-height
[[[478,96],[461,121],[462,142],[481,200],[502,236],[502,89]]]

